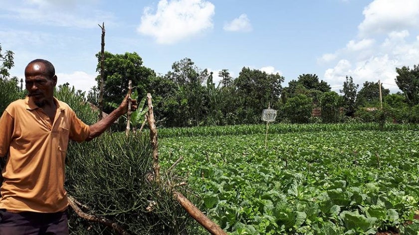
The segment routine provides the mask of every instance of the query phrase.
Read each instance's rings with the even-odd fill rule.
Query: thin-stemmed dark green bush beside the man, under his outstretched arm
[[[111,219],[136,235],[200,234],[199,226],[173,199],[171,190],[146,179],[153,172],[147,135],[106,133],[90,142],[71,142],[67,158],[67,192],[88,207],[87,213]],[[155,206],[149,212],[146,208],[152,204]],[[70,211],[72,234],[113,234]]]

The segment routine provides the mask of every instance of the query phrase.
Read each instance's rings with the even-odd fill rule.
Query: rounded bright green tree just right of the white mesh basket
[[[303,94],[289,98],[283,107],[285,117],[292,123],[308,123],[313,110],[313,100]]]

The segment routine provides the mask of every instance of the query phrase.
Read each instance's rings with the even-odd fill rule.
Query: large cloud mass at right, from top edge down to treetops
[[[419,61],[419,37],[410,37],[411,31],[418,32],[419,1],[406,0],[402,4],[398,0],[374,0],[364,9],[364,15],[356,39],[318,59],[331,65],[325,71],[325,81],[339,87],[346,76],[352,76],[362,87],[365,81],[381,80],[395,93],[399,91],[396,68],[412,67]]]

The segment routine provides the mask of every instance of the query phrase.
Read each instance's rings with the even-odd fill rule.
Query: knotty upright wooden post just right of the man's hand
[[[151,94],[147,93],[148,100],[148,117],[147,121],[150,127],[150,140],[153,146],[153,171],[155,181],[160,183],[160,164],[159,164],[159,143],[157,142],[157,127],[156,121],[154,120],[153,104],[151,102]]]

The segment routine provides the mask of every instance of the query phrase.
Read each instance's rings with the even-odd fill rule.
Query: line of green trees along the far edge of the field
[[[96,57],[99,71],[100,54]],[[8,94],[0,99],[0,112],[7,103],[24,96],[19,79],[8,74],[12,61],[13,53],[2,54],[0,47],[0,92]],[[382,109],[379,83],[366,81],[360,88],[351,76],[346,77],[338,94],[316,74],[301,74],[285,86],[280,74],[248,67],[243,67],[236,78],[222,69],[217,74],[221,80],[215,84],[213,72],[197,67],[190,58],[174,62],[172,70],[161,75],[143,66],[136,52],[105,52],[104,67],[104,112],[110,113],[112,103],[122,101],[128,80],[132,80],[139,99],[152,94],[158,125],[164,127],[261,123],[262,111],[268,106],[277,110],[277,121],[289,123],[419,122],[419,65],[396,68],[395,81],[402,92],[390,94],[389,89],[381,87]],[[88,94],[78,93],[98,106],[100,77],[96,80],[98,86]],[[313,110],[320,115],[313,116]],[[120,128],[124,128],[122,122]]]

